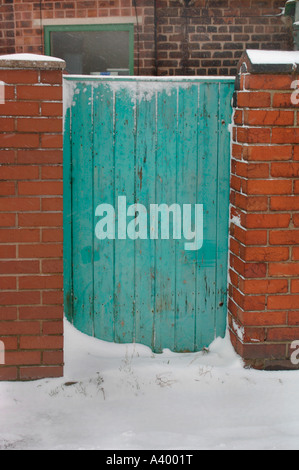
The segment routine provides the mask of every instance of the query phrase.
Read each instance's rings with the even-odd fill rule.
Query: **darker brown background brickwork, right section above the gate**
[[[276,0],[158,1],[161,75],[236,75],[245,49],[292,49]]]

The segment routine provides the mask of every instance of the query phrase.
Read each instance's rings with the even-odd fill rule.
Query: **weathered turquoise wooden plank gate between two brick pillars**
[[[70,76],[64,86],[67,318],[88,335],[155,352],[208,347],[226,329],[234,80]],[[101,204],[115,210],[114,238],[96,235],[104,215],[109,225]],[[128,225],[120,235],[124,217],[137,228],[134,204],[147,232],[129,237]],[[194,233],[201,209],[199,249],[186,249],[190,231],[177,235],[179,209],[168,212],[169,237],[159,213],[152,236],[154,204],[184,216],[188,206]]]

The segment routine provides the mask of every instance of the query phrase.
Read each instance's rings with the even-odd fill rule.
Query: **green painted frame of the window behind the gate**
[[[51,25],[44,26],[45,54],[51,56],[51,33],[76,31],[128,31],[129,32],[129,70],[134,75],[134,25],[133,24],[93,24],[93,25]]]

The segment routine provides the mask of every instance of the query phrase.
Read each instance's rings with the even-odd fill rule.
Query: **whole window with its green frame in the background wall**
[[[64,59],[70,74],[133,75],[134,26],[46,26],[45,53]]]

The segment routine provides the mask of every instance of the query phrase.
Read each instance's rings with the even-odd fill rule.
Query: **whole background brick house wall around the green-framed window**
[[[136,2],[136,74],[235,75],[245,49],[293,48],[292,27],[281,16],[286,0],[196,0],[187,8],[183,0]],[[38,1],[4,0],[0,54],[43,53],[41,17],[88,24],[94,18],[107,23],[115,17],[134,19],[135,14],[132,0],[48,0],[41,10]]]

